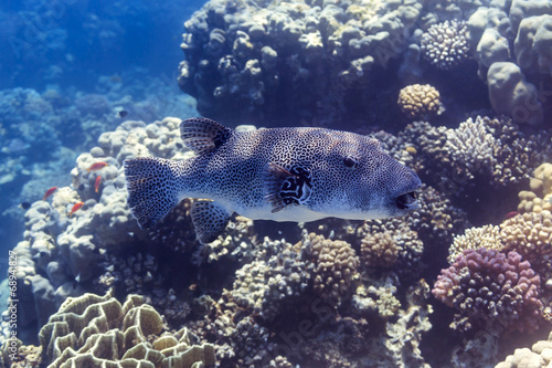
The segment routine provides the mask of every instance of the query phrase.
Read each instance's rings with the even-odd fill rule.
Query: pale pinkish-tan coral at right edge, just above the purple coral
[[[505,249],[520,253],[543,276],[551,275],[552,213],[527,212],[514,215],[500,224]]]

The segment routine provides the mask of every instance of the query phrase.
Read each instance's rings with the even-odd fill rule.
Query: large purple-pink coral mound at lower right
[[[540,277],[518,252],[508,255],[479,248],[466,250],[440,271],[433,295],[459,314],[452,327],[534,330],[541,320]]]

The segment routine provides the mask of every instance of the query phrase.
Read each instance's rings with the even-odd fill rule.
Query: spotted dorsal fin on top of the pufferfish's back
[[[233,133],[233,129],[205,117],[192,117],[180,123],[182,141],[198,155],[219,148]]]

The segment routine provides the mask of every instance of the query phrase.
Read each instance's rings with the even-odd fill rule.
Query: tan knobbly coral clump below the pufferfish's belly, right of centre
[[[315,292],[339,306],[359,278],[359,257],[354,250],[347,242],[332,241],[315,233],[305,233],[302,243],[304,259],[311,262],[309,271]]]

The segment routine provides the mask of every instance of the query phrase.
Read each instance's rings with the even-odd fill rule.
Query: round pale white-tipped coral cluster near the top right
[[[438,69],[458,66],[470,57],[466,22],[455,19],[433,24],[422,34],[421,49],[424,59]]]

